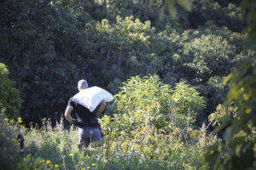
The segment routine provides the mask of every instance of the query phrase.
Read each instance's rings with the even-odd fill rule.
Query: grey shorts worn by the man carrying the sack
[[[85,148],[92,142],[102,139],[102,133],[99,127],[79,127],[79,148],[84,145]]]

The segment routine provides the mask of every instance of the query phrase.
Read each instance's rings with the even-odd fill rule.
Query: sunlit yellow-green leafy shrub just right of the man
[[[156,76],[131,77],[114,99],[119,113],[114,122],[123,124],[116,129],[125,132],[147,126],[166,129],[164,133],[183,129],[205,105],[195,88],[181,82],[172,89]]]

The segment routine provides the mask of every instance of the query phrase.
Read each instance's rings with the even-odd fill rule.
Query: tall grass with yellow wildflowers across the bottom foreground
[[[78,149],[76,127],[22,126],[0,114],[0,167],[4,169],[207,169],[204,144],[199,132],[194,143],[183,143],[175,136],[157,133],[154,127],[137,129],[131,135],[116,135],[104,127],[101,146]],[[106,125],[107,126],[107,125]],[[106,130],[110,129],[110,130]],[[20,151],[16,136],[22,133],[25,149]],[[201,142],[199,142],[201,141]]]

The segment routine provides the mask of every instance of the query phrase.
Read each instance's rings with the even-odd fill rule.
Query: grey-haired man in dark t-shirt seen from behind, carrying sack
[[[89,88],[88,83],[85,80],[80,80],[78,83],[79,92]],[[100,130],[100,124],[97,121],[96,116],[100,116],[102,111],[106,108],[106,102],[102,101],[96,108],[96,111],[91,112],[84,105],[79,105],[70,98],[65,111],[65,117],[68,122],[79,127],[79,149],[83,146],[87,148],[90,143],[96,142],[102,139],[102,132]],[[71,112],[75,111],[78,119],[73,119],[70,116]]]

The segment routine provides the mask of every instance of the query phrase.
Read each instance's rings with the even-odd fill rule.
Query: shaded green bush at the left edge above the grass
[[[14,88],[14,82],[9,80],[9,71],[0,63],[0,110],[9,118],[17,118],[20,113],[20,92]]]

